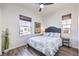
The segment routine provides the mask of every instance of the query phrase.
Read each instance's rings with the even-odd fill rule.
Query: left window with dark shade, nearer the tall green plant
[[[19,15],[20,36],[31,34],[31,18]]]

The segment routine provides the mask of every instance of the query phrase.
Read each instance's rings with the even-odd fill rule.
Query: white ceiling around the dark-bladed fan
[[[43,16],[43,15],[47,15],[50,13],[55,13],[59,10],[64,9],[64,8],[73,6],[74,4],[75,3],[54,3],[52,5],[45,6],[43,8],[42,12],[39,12],[39,4],[38,3],[23,3],[22,5]]]

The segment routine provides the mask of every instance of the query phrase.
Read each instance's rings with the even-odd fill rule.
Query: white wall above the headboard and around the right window
[[[45,27],[56,26],[61,28],[62,15],[72,13],[72,34],[71,34],[71,46],[78,48],[78,9],[77,4],[68,6],[63,10],[59,10],[54,14],[43,17]]]

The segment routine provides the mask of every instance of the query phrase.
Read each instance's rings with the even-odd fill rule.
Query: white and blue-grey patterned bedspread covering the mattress
[[[60,38],[48,36],[31,37],[27,40],[27,43],[47,56],[54,56],[59,50],[59,47],[62,45]]]

